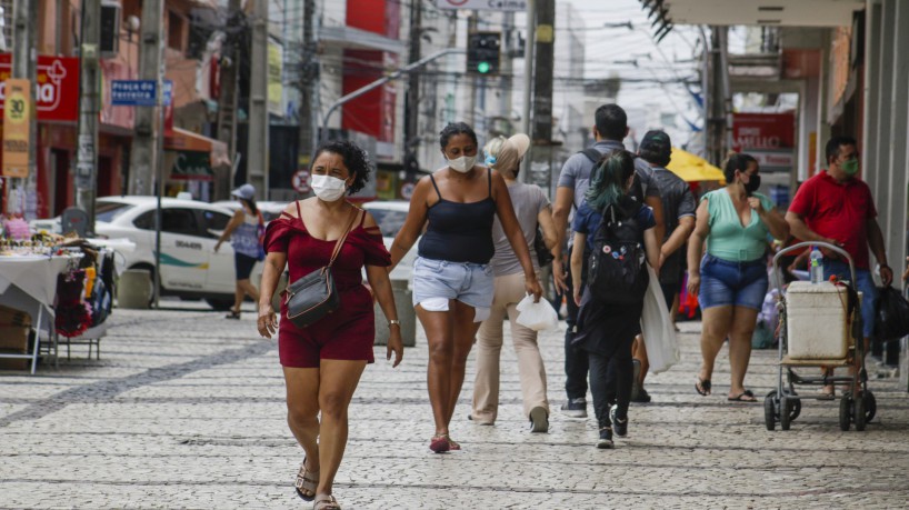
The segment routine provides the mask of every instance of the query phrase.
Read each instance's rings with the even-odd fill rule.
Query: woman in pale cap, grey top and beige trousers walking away
[[[556,227],[552,223],[549,200],[540,187],[523,184],[516,180],[529,147],[530,138],[523,133],[505,140],[496,151],[491,168],[505,178],[527,249],[532,253],[537,227],[541,228],[549,249],[556,244]],[[489,152],[487,151],[487,161]],[[547,432],[549,400],[546,394],[546,369],[537,344],[537,331],[517,322],[517,306],[525,297],[523,270],[498,219],[492,223],[492,240],[496,250],[489,262],[495,277],[492,307],[489,317],[480,324],[477,337],[477,378],[473,383],[473,410],[470,419],[478,424],[496,422],[499,409],[499,359],[503,343],[502,322],[507,317],[511,323],[511,340],[518,357],[523,416],[529,419],[531,431]],[[537,257],[530,259],[539,278]]]

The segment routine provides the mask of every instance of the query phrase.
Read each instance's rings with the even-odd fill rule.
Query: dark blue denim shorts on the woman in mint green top
[[[710,253],[701,259],[701,309],[735,306],[760,310],[767,294],[767,264],[763,258],[731,262]]]

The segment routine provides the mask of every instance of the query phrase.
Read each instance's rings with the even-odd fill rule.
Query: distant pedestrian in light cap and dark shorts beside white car
[[[233,292],[233,308],[227,314],[227,319],[239,319],[240,307],[247,296],[254,302],[259,302],[259,290],[249,279],[252,267],[256,262],[264,259],[262,249],[262,234],[264,233],[264,220],[262,213],[256,207],[256,188],[252,184],[243,184],[230,192],[242,206],[233,213],[233,217],[224,227],[224,231],[214,244],[214,252],[221,244],[230,239],[233,248],[233,270],[236,276],[236,289]]]

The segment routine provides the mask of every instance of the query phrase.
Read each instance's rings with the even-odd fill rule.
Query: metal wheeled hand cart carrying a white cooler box
[[[780,258],[800,248],[817,246],[841,256],[849,262],[851,280],[810,283],[796,281],[783,290]],[[810,249],[810,248],[809,248]],[[856,288],[856,268],[852,258],[839,247],[826,242],[800,242],[780,250],[773,257],[773,278],[780,289],[779,310],[779,371],[777,389],[763,400],[767,430],[789,430],[801,413],[805,399],[836,401],[823,393],[796,392],[797,387],[826,387],[848,383],[839,399],[839,426],[849,430],[865,430],[877,412],[877,401],[868,390],[865,370],[865,342],[860,300]],[[849,367],[852,373],[835,377],[832,369]],[[821,369],[818,377],[801,377],[796,370]]]

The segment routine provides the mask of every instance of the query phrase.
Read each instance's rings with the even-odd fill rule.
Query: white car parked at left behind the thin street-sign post
[[[99,237],[126,238],[136,250],[123,253],[127,269],[154,272],[154,197],[104,197],[96,203]],[[233,249],[214,244],[232,211],[196,200],[161,199],[161,296],[204,299],[216,310],[233,306]],[[252,270],[252,281],[261,274]]]

